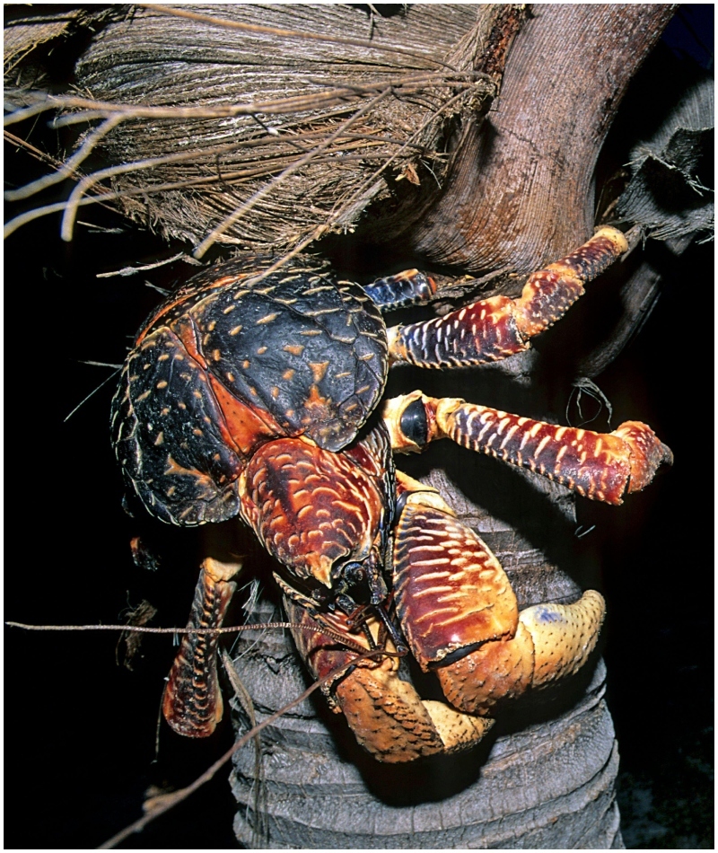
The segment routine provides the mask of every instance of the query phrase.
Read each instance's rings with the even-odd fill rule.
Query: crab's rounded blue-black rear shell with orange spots
[[[163,521],[220,522],[240,511],[253,453],[282,436],[349,444],[381,397],[387,337],[363,289],[269,261],[203,271],[137,336],[112,404],[128,485]]]

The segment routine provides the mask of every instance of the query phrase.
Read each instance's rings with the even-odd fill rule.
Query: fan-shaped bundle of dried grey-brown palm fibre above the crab
[[[210,242],[253,251],[351,230],[372,200],[416,210],[435,194],[524,14],[420,4],[372,19],[370,40],[367,14],[349,6],[177,11],[134,7],[106,26],[76,66],[85,100],[64,101],[79,110],[66,120],[123,112],[98,150],[136,164],[111,179],[130,193],[127,215],[195,244],[219,225]]]

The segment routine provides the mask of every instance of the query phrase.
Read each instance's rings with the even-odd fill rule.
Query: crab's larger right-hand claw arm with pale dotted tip
[[[451,704],[484,715],[496,702],[580,669],[599,637],[601,595],[589,590],[574,604],[520,613],[503,568],[477,534],[433,489],[401,481],[409,495],[394,546],[398,618],[416,660],[437,674]]]

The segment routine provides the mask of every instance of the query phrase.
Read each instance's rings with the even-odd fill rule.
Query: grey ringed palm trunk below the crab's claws
[[[306,683],[289,638],[244,634],[240,655],[258,720]],[[622,848],[604,676],[599,662],[556,717],[539,711],[520,731],[409,766],[377,765],[337,742],[305,701],[262,732],[259,763],[251,744],[235,758],[237,838],[255,849]]]

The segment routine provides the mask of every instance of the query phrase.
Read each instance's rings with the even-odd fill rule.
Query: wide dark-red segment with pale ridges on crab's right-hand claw
[[[432,506],[407,504],[394,550],[398,618],[423,669],[489,639],[512,637],[516,599],[477,534]]]

